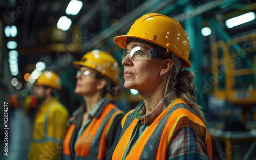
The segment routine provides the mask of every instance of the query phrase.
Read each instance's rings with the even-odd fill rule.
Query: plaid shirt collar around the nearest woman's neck
[[[156,106],[156,108],[148,114],[146,113],[146,107],[144,101],[140,102],[139,105],[134,109],[133,116],[144,121],[144,125],[151,124],[163,110],[165,110],[170,104],[178,100],[174,91],[170,91]]]

